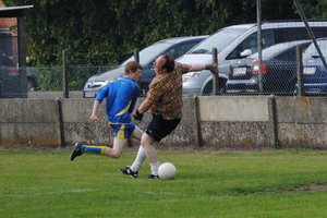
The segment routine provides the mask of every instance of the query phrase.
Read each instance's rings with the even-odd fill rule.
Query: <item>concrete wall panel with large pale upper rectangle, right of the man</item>
[[[274,148],[271,97],[199,97],[203,146]]]

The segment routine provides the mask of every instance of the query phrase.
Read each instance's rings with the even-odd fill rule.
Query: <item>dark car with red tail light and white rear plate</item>
[[[311,40],[281,43],[262,52],[262,85],[259,89],[258,53],[230,62],[228,94],[293,95],[298,82],[296,46],[303,50]]]

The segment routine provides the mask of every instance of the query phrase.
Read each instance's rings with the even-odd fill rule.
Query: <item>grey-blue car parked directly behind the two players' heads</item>
[[[174,37],[159,40],[149,47],[140,51],[140,63],[143,66],[142,77],[140,81],[141,96],[145,96],[148,90],[148,85],[155,77],[156,73],[153,68],[153,62],[156,58],[164,53],[169,53],[174,59],[183,56],[196,44],[207,38],[208,36],[184,36]],[[87,80],[83,89],[84,98],[94,98],[96,94],[108,83],[113,82],[121,77],[124,73],[124,66],[128,62],[134,60],[132,56],[124,62],[122,62],[117,69],[97,74]]]

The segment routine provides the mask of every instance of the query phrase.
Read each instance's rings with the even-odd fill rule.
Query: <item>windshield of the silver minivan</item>
[[[222,28],[203,40],[187,53],[211,53],[213,48],[217,48],[219,52],[246,31],[247,28]]]

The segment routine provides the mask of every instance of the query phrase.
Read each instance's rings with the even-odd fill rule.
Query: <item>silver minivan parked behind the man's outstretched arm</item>
[[[308,22],[316,37],[327,36],[327,22]],[[279,43],[310,39],[302,21],[263,22],[261,25],[263,48]],[[295,34],[294,34],[295,33]],[[244,58],[246,49],[257,51],[257,24],[240,24],[223,27],[203,40],[178,61],[182,63],[211,63],[211,50],[218,50],[219,92],[226,93],[228,71],[231,60]],[[249,53],[247,53],[249,55]],[[213,74],[207,70],[190,72],[183,75],[183,95],[211,95]]]

